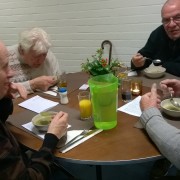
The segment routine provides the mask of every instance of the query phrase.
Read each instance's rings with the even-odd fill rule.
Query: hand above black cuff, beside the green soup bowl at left
[[[68,114],[60,111],[51,120],[47,133],[54,134],[60,139],[67,132]]]

